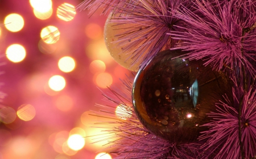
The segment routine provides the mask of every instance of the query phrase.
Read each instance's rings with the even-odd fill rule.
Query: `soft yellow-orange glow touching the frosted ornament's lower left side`
[[[86,55],[93,60],[99,59],[106,64],[114,62],[104,42],[104,38],[92,41],[85,49]]]

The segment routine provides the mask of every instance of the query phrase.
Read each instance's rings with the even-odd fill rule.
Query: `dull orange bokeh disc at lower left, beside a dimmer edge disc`
[[[35,117],[35,108],[30,104],[20,105],[17,110],[17,115],[23,121],[31,121]]]

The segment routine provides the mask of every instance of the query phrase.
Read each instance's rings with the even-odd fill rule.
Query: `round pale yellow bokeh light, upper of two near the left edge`
[[[18,32],[24,27],[22,16],[15,13],[7,15],[3,23],[5,24],[6,29],[11,32]]]

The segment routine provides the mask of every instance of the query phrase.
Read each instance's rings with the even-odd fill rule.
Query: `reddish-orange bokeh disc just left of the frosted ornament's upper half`
[[[85,35],[93,40],[98,40],[102,35],[102,28],[98,24],[90,23],[85,27]]]

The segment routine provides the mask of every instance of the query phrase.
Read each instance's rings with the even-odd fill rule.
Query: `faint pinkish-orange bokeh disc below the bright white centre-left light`
[[[55,105],[61,111],[69,111],[73,108],[73,99],[67,95],[62,95],[57,97]]]

